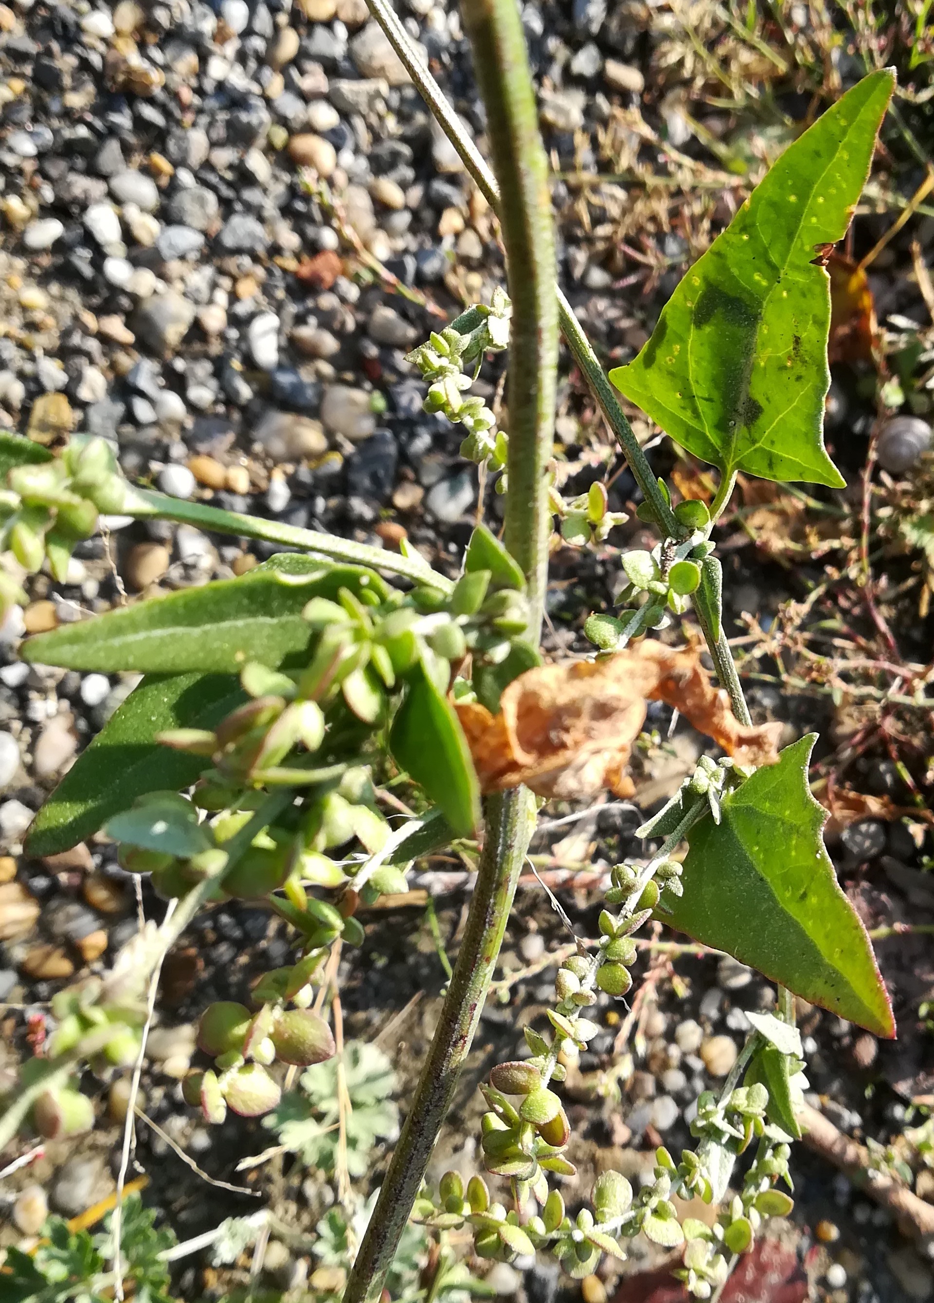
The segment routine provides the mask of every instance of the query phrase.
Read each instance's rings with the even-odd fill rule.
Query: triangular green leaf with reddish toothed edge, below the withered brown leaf
[[[726,950],[796,995],[894,1036],[866,930],[823,847],[827,812],[808,787],[815,734],[785,747],[722,803],[720,823],[688,834],[684,895],[666,891],[666,923]]]

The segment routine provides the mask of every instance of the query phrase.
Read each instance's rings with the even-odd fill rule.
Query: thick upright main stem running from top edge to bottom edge
[[[500,210],[512,297],[505,543],[529,585],[529,637],[537,642],[551,533],[547,477],[558,370],[555,245],[547,162],[538,134],[535,96],[516,0],[465,0],[464,18],[486,104],[496,173],[508,195]],[[535,797],[524,787],[487,801],[477,887],[440,1023],[357,1253],[344,1303],[376,1303],[382,1293],[477,1031],[535,813]]]

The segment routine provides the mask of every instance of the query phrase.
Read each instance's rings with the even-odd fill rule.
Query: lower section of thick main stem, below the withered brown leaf
[[[477,1031],[534,825],[535,799],[526,788],[487,801],[486,843],[453,977],[343,1303],[380,1296]]]

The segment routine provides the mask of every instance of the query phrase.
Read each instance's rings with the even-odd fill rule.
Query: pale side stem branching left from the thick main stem
[[[414,556],[400,556],[397,552],[370,547],[369,543],[354,543],[349,538],[335,534],[322,534],[315,529],[298,529],[296,525],[281,525],[277,520],[262,520],[259,516],[244,516],[236,511],[221,511],[203,502],[184,502],[165,494],[134,489],[133,499],[126,507],[126,515],[137,520],[177,520],[184,525],[197,525],[215,534],[238,534],[241,538],[259,538],[267,543],[281,543],[284,547],[298,547],[305,552],[320,552],[333,560],[349,562],[353,566],[369,566],[373,569],[401,575],[416,584],[429,584],[442,593],[449,593],[453,584],[444,575],[431,569],[427,562]]]

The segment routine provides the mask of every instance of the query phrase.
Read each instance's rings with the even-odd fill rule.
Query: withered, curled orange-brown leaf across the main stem
[[[694,649],[644,641],[601,661],[528,670],[500,698],[500,714],[457,702],[481,788],[525,783],[538,796],[573,800],[608,787],[632,796],[627,774],[646,701],[680,710],[744,765],[774,765],[782,724],[740,724]]]

